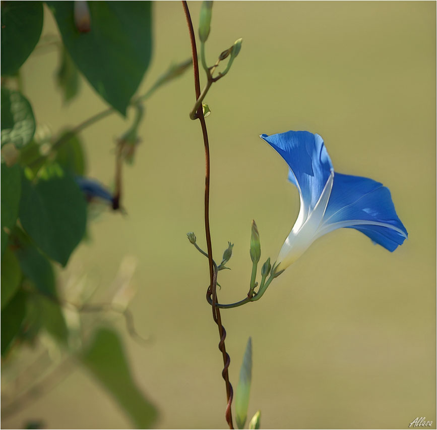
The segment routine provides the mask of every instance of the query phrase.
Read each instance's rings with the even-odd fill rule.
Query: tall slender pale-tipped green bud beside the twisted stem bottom
[[[240,367],[240,378],[235,392],[235,420],[238,428],[243,428],[247,418],[249,395],[252,383],[252,339],[247,340],[243,362]]]

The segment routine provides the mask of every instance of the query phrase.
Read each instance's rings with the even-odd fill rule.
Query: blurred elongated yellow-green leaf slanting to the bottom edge
[[[132,377],[119,336],[100,329],[82,357],[84,365],[130,416],[137,428],[150,428],[157,411]]]

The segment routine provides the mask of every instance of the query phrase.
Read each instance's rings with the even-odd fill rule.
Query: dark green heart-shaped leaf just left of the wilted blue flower
[[[68,175],[36,185],[23,178],[20,221],[36,245],[65,266],[85,234],[85,198]]]

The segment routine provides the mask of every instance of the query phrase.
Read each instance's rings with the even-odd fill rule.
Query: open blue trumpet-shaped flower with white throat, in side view
[[[316,239],[333,230],[353,228],[389,251],[408,233],[398,218],[390,191],[360,176],[334,172],[323,139],[307,131],[260,136],[290,168],[288,180],[300,195],[296,223],[285,240],[278,270],[293,263]]]

